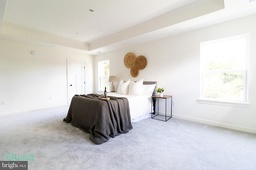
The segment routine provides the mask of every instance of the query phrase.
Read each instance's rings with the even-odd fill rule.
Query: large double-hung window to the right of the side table
[[[249,35],[201,43],[201,99],[248,102]]]

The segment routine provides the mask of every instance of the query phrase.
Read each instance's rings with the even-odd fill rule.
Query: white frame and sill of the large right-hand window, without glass
[[[235,69],[235,70],[204,70],[204,56],[203,56],[203,46],[210,43],[224,42],[235,39],[246,39],[246,54],[245,54],[245,66],[244,69]],[[204,104],[217,104],[224,106],[241,106],[247,107],[248,103],[248,65],[249,65],[249,42],[250,34],[238,35],[234,37],[227,37],[223,39],[216,39],[213,41],[206,41],[200,43],[200,98],[199,103]],[[243,72],[244,74],[244,90],[243,90],[243,100],[224,100],[218,98],[206,98],[204,97],[204,74],[207,73],[224,73],[224,72]]]

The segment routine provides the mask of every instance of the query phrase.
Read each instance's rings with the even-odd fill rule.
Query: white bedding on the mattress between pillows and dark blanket
[[[151,116],[151,96],[150,95],[123,95],[116,92],[108,93],[108,96],[127,98],[129,101],[131,121],[138,122]],[[153,111],[153,108],[152,108]]]

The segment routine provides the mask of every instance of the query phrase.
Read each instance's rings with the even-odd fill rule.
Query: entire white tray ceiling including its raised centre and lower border
[[[0,35],[96,55],[256,14],[251,1],[0,0]],[[17,35],[14,27],[36,36]],[[56,41],[40,38],[46,35]]]

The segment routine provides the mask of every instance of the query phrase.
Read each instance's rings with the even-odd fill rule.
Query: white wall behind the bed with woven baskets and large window
[[[157,81],[164,94],[172,95],[176,105],[173,117],[256,133],[256,15],[183,33],[95,57],[95,89],[98,89],[98,61],[110,60],[110,74],[118,80]],[[200,42],[250,33],[248,107],[199,104]],[[144,55],[147,66],[136,78],[124,66],[124,56]],[[118,83],[116,83],[118,84]],[[170,113],[170,111],[168,111]],[[169,121],[172,121],[171,119]]]

